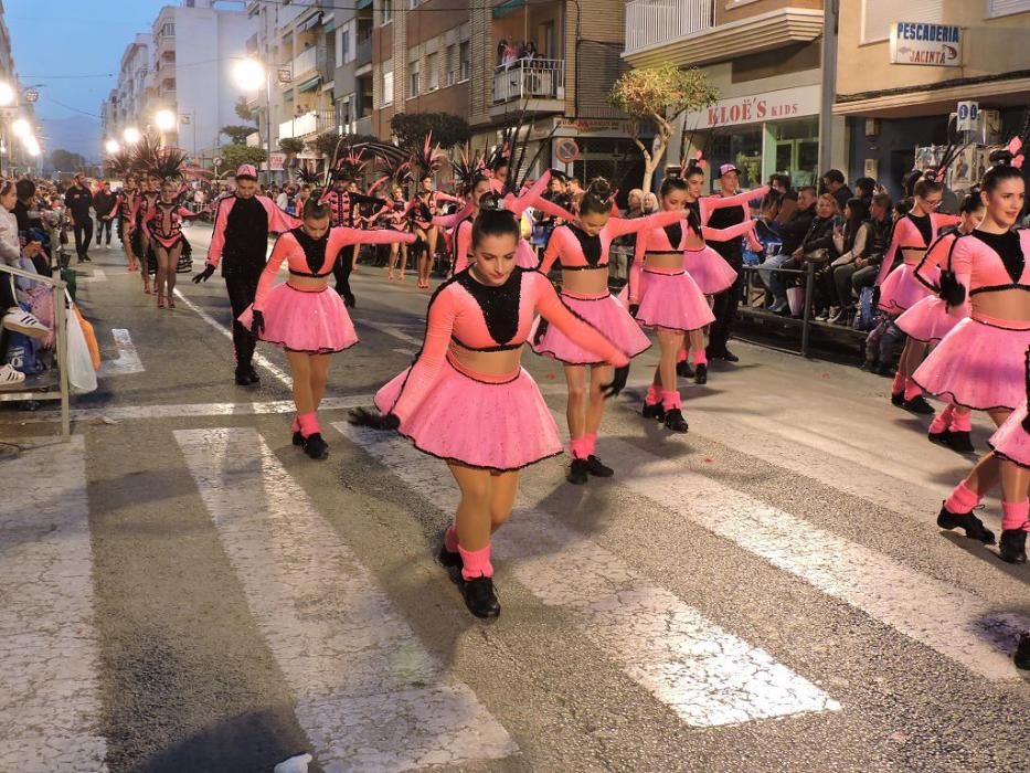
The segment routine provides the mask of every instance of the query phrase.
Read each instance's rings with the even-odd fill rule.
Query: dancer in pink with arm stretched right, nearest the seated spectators
[[[688,176],[694,176],[692,170]],[[660,361],[644,400],[645,419],[663,421],[672,432],[687,432],[677,385],[677,354],[689,345],[698,366],[698,383],[708,380],[708,358],[702,329],[715,317],[697,282],[684,268],[684,254],[704,246],[705,239],[728,241],[754,236],[754,223],[745,221],[729,229],[702,226],[693,210],[684,210],[690,183],[667,177],[661,183],[661,207],[679,212],[681,219],[665,227],[645,229],[637,236],[633,269],[625,290],[629,311],[638,322],[658,331]]]

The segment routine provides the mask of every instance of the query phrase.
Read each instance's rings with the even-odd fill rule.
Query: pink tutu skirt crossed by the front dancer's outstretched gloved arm
[[[650,348],[651,342],[640,330],[640,326],[629,316],[626,307],[610,295],[603,298],[575,298],[563,293],[562,300],[629,357],[636,357]],[[540,319],[537,319],[530,330],[529,340],[537,340],[539,327]],[[597,359],[597,354],[580,348],[553,325],[548,326],[539,343],[532,343],[532,349],[538,354],[553,357],[570,366],[604,364],[603,360]]]

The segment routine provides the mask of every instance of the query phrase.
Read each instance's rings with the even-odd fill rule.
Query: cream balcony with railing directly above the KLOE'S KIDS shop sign
[[[634,67],[680,67],[735,59],[822,34],[822,11],[772,2],[768,11],[720,22],[718,0],[631,0],[626,4],[625,59]]]

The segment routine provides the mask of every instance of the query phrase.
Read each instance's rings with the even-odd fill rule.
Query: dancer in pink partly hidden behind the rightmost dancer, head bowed
[[[937,239],[915,267],[915,278],[926,285],[934,295],[916,301],[895,320],[895,325],[909,336],[910,341],[926,347],[939,343],[964,317],[969,316],[968,301],[963,307],[963,314],[948,314],[947,304],[937,296],[941,289],[937,279],[942,271],[952,271],[951,255],[955,240],[971,233],[984,219],[984,201],[978,188],[962,200],[958,216],[962,218],[962,222],[957,229],[947,231]],[[920,353],[920,357],[922,356]],[[973,452],[971,428],[969,410],[948,404],[931,422],[927,436],[931,443],[947,446],[959,454],[968,454]]]

